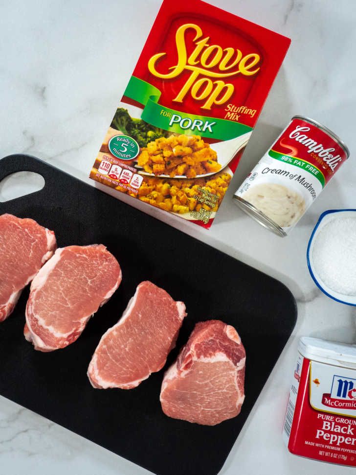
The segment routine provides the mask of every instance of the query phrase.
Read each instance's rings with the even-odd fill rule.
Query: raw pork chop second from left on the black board
[[[57,249],[32,281],[26,340],[40,351],[70,345],[120,282],[119,263],[102,244]]]

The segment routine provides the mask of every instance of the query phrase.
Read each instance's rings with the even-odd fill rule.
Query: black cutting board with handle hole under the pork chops
[[[58,247],[105,244],[120,262],[123,280],[79,339],[51,353],[35,351],[23,337],[25,289],[0,324],[0,394],[156,474],[217,474],[292,332],[292,294],[266,274],[33,157],[2,159],[0,180],[22,170],[40,173],[45,187],[0,203],[0,214],[35,219],[54,230]],[[91,355],[144,280],[187,307],[165,368],[195,323],[221,319],[237,329],[247,354],[238,417],[215,427],[168,418],[159,403],[163,370],[132,390],[91,387]]]

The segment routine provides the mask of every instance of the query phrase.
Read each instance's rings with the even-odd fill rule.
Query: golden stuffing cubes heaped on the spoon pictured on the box
[[[199,135],[172,135],[148,142],[137,157],[137,165],[156,176],[187,178],[221,169],[217,153]]]

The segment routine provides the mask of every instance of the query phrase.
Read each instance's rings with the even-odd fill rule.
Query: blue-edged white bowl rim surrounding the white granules
[[[322,281],[316,269],[314,268],[313,261],[312,261],[312,250],[313,250],[315,238],[317,237],[317,235],[320,233],[320,231],[323,229],[323,227],[326,224],[330,223],[330,221],[332,221],[336,217],[341,217],[340,214],[342,214],[342,217],[355,218],[356,210],[329,210],[329,211],[325,211],[323,214],[320,215],[308,243],[308,249],[307,249],[308,269],[309,269],[310,275],[312,276],[312,280],[320,288],[320,290],[325,293],[325,295],[327,295],[333,300],[336,300],[336,302],[340,302],[342,304],[352,305],[356,307],[356,295],[344,295],[331,289],[328,285],[326,285]]]

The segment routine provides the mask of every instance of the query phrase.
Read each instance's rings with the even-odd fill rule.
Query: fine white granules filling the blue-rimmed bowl
[[[320,279],[332,290],[356,295],[356,213],[337,217],[316,236],[312,263]]]

